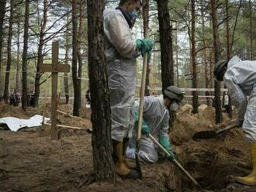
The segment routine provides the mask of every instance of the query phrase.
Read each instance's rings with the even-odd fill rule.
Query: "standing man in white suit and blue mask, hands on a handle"
[[[121,0],[116,9],[103,12],[105,56],[112,120],[113,160],[121,177],[137,179],[140,174],[123,159],[129,137],[131,106],[137,85],[136,58],[153,48],[151,39],[133,39],[131,29],[140,14],[141,0]]]

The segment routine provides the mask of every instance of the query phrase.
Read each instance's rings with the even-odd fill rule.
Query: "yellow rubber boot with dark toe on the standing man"
[[[140,177],[140,174],[136,170],[130,170],[123,159],[123,142],[117,142],[115,144],[115,151],[117,156],[116,161],[116,173],[119,174],[120,177],[124,177],[127,179],[136,180]]]

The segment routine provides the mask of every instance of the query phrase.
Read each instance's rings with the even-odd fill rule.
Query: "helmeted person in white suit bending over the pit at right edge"
[[[238,110],[237,121],[250,143],[252,171],[246,177],[236,177],[236,181],[256,185],[256,60],[242,61],[237,56],[229,62],[220,60],[214,67],[214,76],[217,81],[224,81]]]

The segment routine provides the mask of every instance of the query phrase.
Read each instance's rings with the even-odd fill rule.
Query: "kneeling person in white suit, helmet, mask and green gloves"
[[[147,96],[144,98],[142,138],[139,142],[140,150],[138,152],[140,161],[157,163],[161,154],[161,149],[158,149],[154,142],[147,137],[149,133],[171,154],[167,156],[168,159],[172,160],[175,158],[168,136],[170,118],[168,108],[171,111],[177,111],[183,97],[184,93],[178,87],[170,86],[164,90],[164,95],[159,97]],[[138,118],[139,102],[135,103],[133,110]],[[134,125],[133,138],[130,139],[129,147],[126,150],[126,157],[130,159],[135,159],[136,139],[137,123]]]

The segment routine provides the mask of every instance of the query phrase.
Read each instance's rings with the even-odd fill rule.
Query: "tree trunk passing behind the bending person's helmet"
[[[216,18],[216,0],[211,0],[212,9],[212,22],[213,22],[213,47],[214,47],[214,61],[218,62],[220,59],[220,43],[218,33],[218,23]],[[214,81],[214,94],[215,94],[215,111],[216,111],[216,123],[222,122],[222,108],[220,101],[220,82]]]

